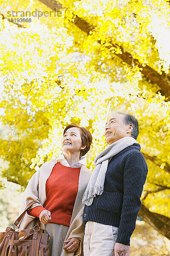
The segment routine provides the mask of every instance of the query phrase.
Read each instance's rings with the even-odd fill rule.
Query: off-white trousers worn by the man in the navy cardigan
[[[85,224],[84,256],[114,256],[118,227],[93,221]]]

